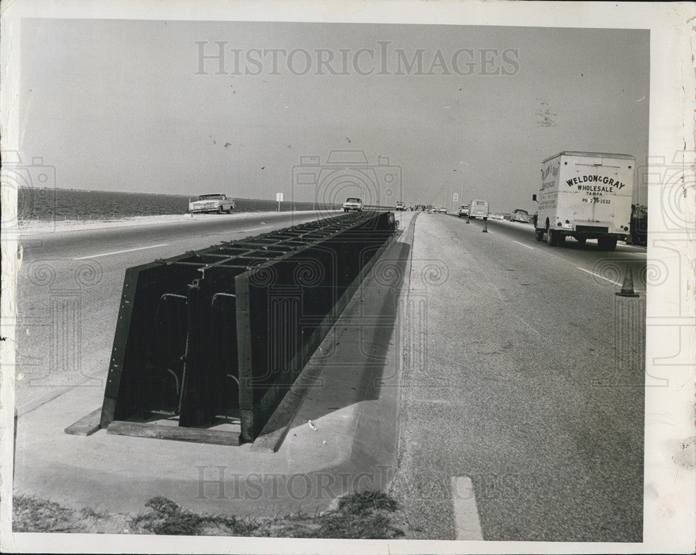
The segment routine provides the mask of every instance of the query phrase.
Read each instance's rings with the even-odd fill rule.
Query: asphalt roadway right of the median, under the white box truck
[[[640,541],[645,298],[613,282],[630,267],[644,291],[645,250],[483,227],[416,222],[393,481],[408,535],[454,539],[450,483],[469,476],[485,540]]]

